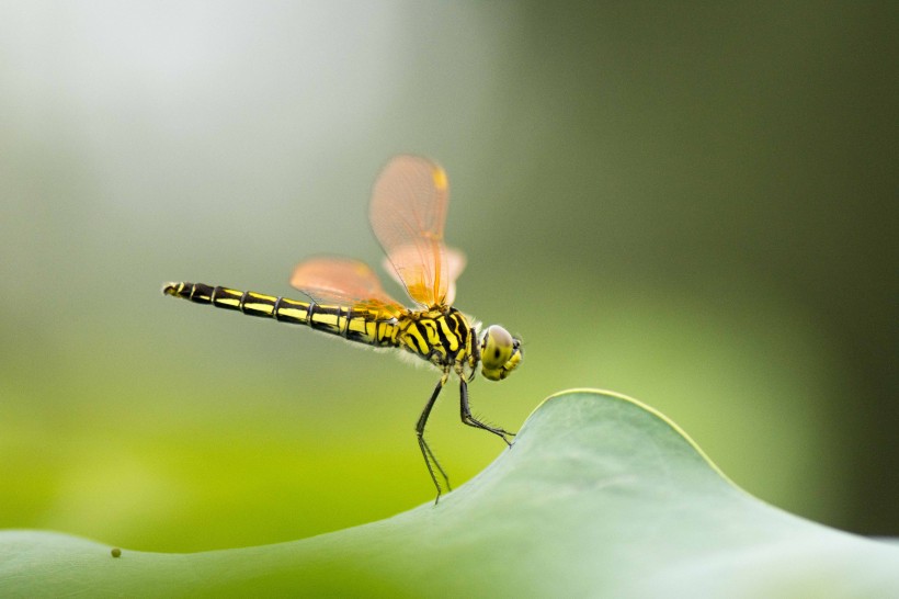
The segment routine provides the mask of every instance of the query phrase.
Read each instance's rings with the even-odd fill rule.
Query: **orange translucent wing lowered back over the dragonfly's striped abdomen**
[[[389,316],[406,310],[384,291],[372,269],[350,258],[319,257],[300,262],[291,275],[291,285],[318,304],[375,309]]]

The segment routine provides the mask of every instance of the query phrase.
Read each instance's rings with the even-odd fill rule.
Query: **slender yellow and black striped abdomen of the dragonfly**
[[[218,308],[239,310],[250,316],[273,318],[278,323],[306,325],[316,330],[368,346],[396,347],[398,344],[397,319],[385,319],[375,310],[321,305],[315,302],[263,295],[252,291],[214,287],[203,283],[169,283],[162,287],[162,293],[196,304],[212,304]]]

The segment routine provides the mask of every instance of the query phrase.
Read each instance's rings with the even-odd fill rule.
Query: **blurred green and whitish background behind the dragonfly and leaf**
[[[3,2],[0,527],[192,551],[432,500],[435,372],[159,293],[378,263],[371,185],[416,152],[457,307],[525,340],[477,414],[614,389],[759,497],[899,534],[898,12]],[[455,387],[429,433],[456,485],[503,450]]]

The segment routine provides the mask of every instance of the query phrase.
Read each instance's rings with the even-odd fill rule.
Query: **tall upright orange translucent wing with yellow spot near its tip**
[[[446,172],[418,156],[397,156],[375,182],[368,218],[397,278],[423,306],[447,305],[455,287],[443,227],[450,201]],[[459,252],[455,252],[459,255]],[[462,261],[464,264],[464,259]]]

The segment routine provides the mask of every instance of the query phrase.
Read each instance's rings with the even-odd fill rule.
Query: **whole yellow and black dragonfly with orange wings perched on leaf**
[[[524,355],[519,337],[499,325],[481,330],[478,321],[453,307],[456,280],[466,259],[444,242],[448,203],[446,172],[419,156],[392,158],[374,185],[368,218],[386,255],[384,267],[406,289],[414,308],[388,295],[364,262],[340,257],[310,258],[294,269],[291,285],[306,295],[306,301],[204,283],[173,282],[162,287],[164,295],[305,325],[374,348],[397,349],[435,366],[440,380],[416,423],[419,449],[437,493],[435,505],[443,493],[441,479],[446,490],[452,490],[450,477],[424,436],[437,396],[455,375],[462,421],[496,434],[511,448],[513,432],[471,414],[468,383],[478,368],[488,381],[502,381]]]

